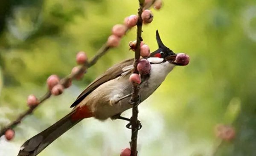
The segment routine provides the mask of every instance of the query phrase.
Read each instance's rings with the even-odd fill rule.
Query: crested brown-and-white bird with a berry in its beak
[[[175,66],[189,64],[189,56],[184,53],[175,54],[166,47],[156,31],[158,49],[147,59],[151,69],[147,75],[141,76],[140,102],[148,98],[165,80]],[[18,156],[36,156],[55,139],[84,118],[94,117],[101,121],[108,118],[123,119],[121,114],[133,107],[131,104],[132,84],[129,81],[133,73],[134,58],[122,61],[109,68],[104,74],[90,83],[73,102],[73,110],[46,130],[33,136],[20,147]]]

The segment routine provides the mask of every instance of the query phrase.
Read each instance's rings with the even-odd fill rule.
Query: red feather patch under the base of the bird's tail
[[[90,111],[87,105],[84,105],[82,107],[76,108],[75,113],[71,115],[71,120],[77,121],[83,118],[90,118],[90,117],[93,117],[93,113]]]

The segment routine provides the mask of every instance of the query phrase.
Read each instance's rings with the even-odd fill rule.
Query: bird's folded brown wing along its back
[[[122,61],[119,64],[115,64],[111,68],[109,68],[103,75],[100,75],[96,80],[94,80],[92,83],[89,84],[85,88],[85,90],[78,96],[76,101],[70,106],[75,107],[77,104],[79,104],[90,92],[95,90],[97,87],[99,87],[101,84],[110,81],[114,78],[119,77],[124,71],[122,70],[125,66],[129,66],[133,64],[134,58]]]

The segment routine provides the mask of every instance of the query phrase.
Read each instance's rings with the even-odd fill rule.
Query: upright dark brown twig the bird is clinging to
[[[136,42],[136,50],[134,54],[134,73],[139,74],[137,70],[137,65],[140,62],[140,42],[142,41],[141,32],[142,32],[142,23],[143,20],[141,18],[141,14],[143,12],[144,0],[139,0],[140,8],[138,12],[138,22],[137,22],[137,42]],[[132,117],[131,117],[131,156],[137,156],[137,137],[140,121],[138,121],[138,104],[140,103],[139,99],[139,84],[133,83],[133,93],[131,96],[131,101],[134,102],[134,106],[132,108]]]

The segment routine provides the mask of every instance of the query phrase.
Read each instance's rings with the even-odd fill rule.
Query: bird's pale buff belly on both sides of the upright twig
[[[153,79],[152,79],[153,78]],[[140,84],[140,101],[147,99],[162,83],[163,80],[149,78]],[[86,102],[95,116],[100,120],[105,120],[111,116],[115,116],[133,107],[129,103],[131,96],[123,98],[132,93],[132,84],[129,81],[129,75],[116,78],[99,86],[91,92],[86,99]],[[120,98],[123,98],[120,100]]]

